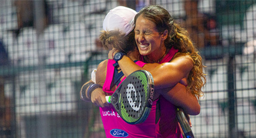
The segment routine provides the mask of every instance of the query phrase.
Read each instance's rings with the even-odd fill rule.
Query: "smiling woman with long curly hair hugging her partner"
[[[199,114],[200,108],[191,106],[193,103],[189,103],[185,95],[169,90],[180,82],[199,100],[203,96],[201,89],[205,84],[202,57],[190,40],[188,32],[175,23],[163,7],[144,7],[134,19],[134,38],[141,55],[140,61],[159,63],[148,70],[153,75],[155,90],[159,94],[156,97],[159,97],[161,114],[156,128],[157,137],[181,137],[178,122],[175,120],[175,106],[184,108],[190,115]],[[115,59],[116,54],[122,56]],[[137,70],[145,70],[115,48],[109,52],[109,59],[113,58],[125,76]]]

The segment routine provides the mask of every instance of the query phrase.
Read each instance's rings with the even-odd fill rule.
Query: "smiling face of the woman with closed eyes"
[[[140,51],[140,54],[148,55],[150,59],[157,60],[163,56],[164,40],[166,39],[165,31],[161,35],[154,22],[138,17],[135,23],[135,41]],[[166,30],[167,31],[167,30]]]

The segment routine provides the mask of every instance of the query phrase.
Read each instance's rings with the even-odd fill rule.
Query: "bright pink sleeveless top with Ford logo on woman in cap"
[[[115,61],[109,59],[108,65],[107,65],[106,80],[102,88],[103,91],[109,93],[109,95],[114,93],[113,91],[111,91],[111,88],[110,88],[110,84],[113,80],[113,75],[114,75],[113,64],[115,64]],[[146,63],[138,61],[136,62],[136,64],[142,67]],[[101,115],[106,136],[107,137],[156,137],[156,133],[155,133],[156,102],[157,100],[153,102],[150,114],[146,119],[146,121],[136,125],[127,124],[117,114],[115,108],[112,105],[104,108],[100,107],[100,115]]]

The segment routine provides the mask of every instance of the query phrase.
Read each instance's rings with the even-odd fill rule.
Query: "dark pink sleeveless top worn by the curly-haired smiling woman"
[[[172,47],[169,53],[167,53],[159,64],[170,62],[177,52],[178,49]],[[143,61],[142,56],[140,59]],[[156,126],[157,137],[182,137],[178,122],[175,119],[175,106],[171,102],[167,101],[162,95],[159,97],[158,103],[161,114]]]

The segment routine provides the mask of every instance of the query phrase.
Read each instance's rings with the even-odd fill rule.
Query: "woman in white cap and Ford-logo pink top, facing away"
[[[113,10],[110,10],[103,22],[103,29],[105,31],[103,31],[100,36],[100,39],[106,48],[114,47],[118,49],[118,51],[122,51],[125,55],[129,56],[133,61],[139,59],[139,53],[135,48],[134,32],[132,31],[134,28],[133,18],[135,14],[135,11],[122,6],[118,6]],[[81,96],[84,93],[85,97],[82,97],[82,99],[86,100],[87,98],[95,105],[100,106],[100,114],[107,137],[121,137],[121,135],[115,135],[116,133],[113,133],[113,130],[121,130],[122,132],[125,132],[128,137],[156,137],[155,115],[157,100],[153,103],[148,119],[144,123],[138,125],[129,125],[125,123],[120,117],[118,117],[114,107],[112,105],[108,105],[106,102],[105,96],[107,94],[111,95],[116,89],[118,83],[122,82],[123,79],[122,76],[121,78],[117,78],[117,80],[121,81],[113,83],[113,72],[116,69],[118,70],[118,64],[116,67],[113,66],[116,65],[115,63],[116,61],[114,60],[106,60],[99,64],[97,68],[97,84],[93,84],[92,82],[84,84],[81,89]],[[145,65],[145,63],[142,62],[136,62],[136,64],[141,67]],[[157,65],[158,64],[151,64],[144,67],[146,67],[147,70],[151,70],[151,68],[154,68]],[[109,72],[112,72],[112,74]],[[103,91],[102,89],[97,89],[101,88],[101,86],[103,86]],[[87,89],[89,87],[90,90]],[[167,89],[170,90],[170,88]],[[165,89],[165,91],[167,89]],[[189,97],[186,99],[187,101],[196,101],[196,98],[191,97],[190,92],[186,92],[186,88],[181,84],[177,84],[170,93],[173,93],[172,91],[179,91],[179,93],[183,93],[184,96]],[[87,95],[87,93],[89,94]],[[157,99],[157,97],[155,98]],[[179,99],[175,98],[179,97],[173,96],[169,99],[174,102],[175,100],[179,101]],[[198,107],[199,104],[190,104],[189,108],[197,108],[198,110]],[[187,111],[190,110],[188,109]]]

